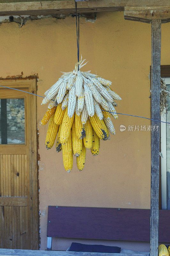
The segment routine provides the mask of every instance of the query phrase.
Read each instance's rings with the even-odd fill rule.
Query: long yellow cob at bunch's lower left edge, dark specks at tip
[[[54,114],[50,117],[48,124],[47,136],[45,140],[45,145],[47,149],[52,148],[57,136],[59,125],[54,123]]]

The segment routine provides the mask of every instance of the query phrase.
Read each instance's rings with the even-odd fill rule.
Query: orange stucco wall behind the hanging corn
[[[170,64],[169,31],[170,24],[163,24],[162,65]],[[38,73],[39,95],[77,61],[75,18],[27,21],[22,28],[3,23],[0,35],[0,76]],[[150,117],[150,24],[124,20],[123,12],[99,13],[94,23],[80,18],[80,53],[89,60],[83,70],[97,71],[113,82],[112,89],[122,97],[117,112]],[[74,158],[72,172],[67,173],[62,152],[56,153],[55,147],[47,151],[44,145],[47,126],[40,121],[46,108],[37,97],[41,249],[46,249],[48,205],[150,208],[150,132],[128,131],[128,125],[147,126],[149,120],[119,115],[113,120],[116,135],[101,141],[100,154],[93,157],[87,151],[82,172]],[[121,124],[126,131],[120,131]],[[53,241],[53,249],[65,250],[72,240]],[[100,243],[149,251],[148,243]]]

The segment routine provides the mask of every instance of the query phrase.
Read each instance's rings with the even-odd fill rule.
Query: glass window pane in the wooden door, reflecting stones
[[[24,99],[0,99],[0,144],[25,144]]]

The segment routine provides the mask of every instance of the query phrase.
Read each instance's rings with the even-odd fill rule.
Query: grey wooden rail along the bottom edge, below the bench
[[[32,251],[32,250],[8,250],[1,249],[0,256],[139,256],[139,254],[126,253],[102,253],[102,252],[63,252],[63,251]],[[147,256],[147,254],[140,254],[140,256]]]

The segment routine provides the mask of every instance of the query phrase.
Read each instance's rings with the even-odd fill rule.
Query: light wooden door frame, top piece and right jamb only
[[[32,79],[19,78],[19,79],[0,79],[0,85],[21,89],[33,94],[36,94],[36,82],[37,79],[33,77]],[[6,89],[4,87],[0,87],[1,89]],[[10,89],[9,89],[10,90]],[[15,90],[14,95],[15,95]],[[30,166],[30,245],[31,250],[39,249],[39,213],[38,213],[38,171],[37,171],[37,102],[36,97],[33,94],[27,94],[27,99],[29,101],[29,115],[27,118],[29,120],[29,140],[26,139],[27,152],[29,154],[29,166]],[[4,145],[4,151],[5,147]],[[25,145],[23,145],[25,146]]]

